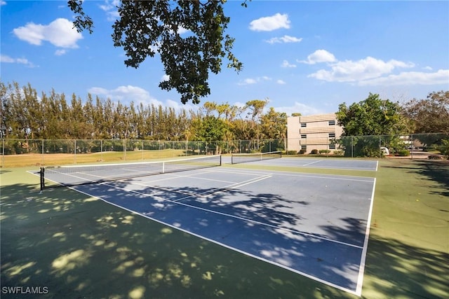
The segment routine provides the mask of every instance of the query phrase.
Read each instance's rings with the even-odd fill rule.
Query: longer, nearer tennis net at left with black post
[[[60,186],[76,186],[132,179],[153,174],[202,169],[220,166],[221,164],[221,155],[207,155],[204,157],[158,162],[41,167],[39,173],[41,174],[41,190],[43,190],[45,188],[45,180],[53,181]]]

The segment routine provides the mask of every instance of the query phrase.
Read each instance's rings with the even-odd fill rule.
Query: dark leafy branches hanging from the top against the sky
[[[220,73],[223,58],[229,68],[243,67],[232,53],[234,39],[225,34],[230,20],[223,11],[225,2],[121,1],[112,26],[114,46],[125,50],[127,67],[138,68],[159,53],[168,75],[159,87],[177,90],[183,104],[199,104],[201,97],[210,95],[209,72]],[[246,1],[243,4],[246,7]],[[84,13],[83,1],[69,0],[68,6],[75,13],[76,29],[92,33],[93,20]]]

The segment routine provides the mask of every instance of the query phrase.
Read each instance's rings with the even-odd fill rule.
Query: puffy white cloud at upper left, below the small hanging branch
[[[34,24],[13,29],[13,33],[22,41],[40,46],[42,41],[48,41],[60,48],[78,48],[76,42],[83,36],[76,31],[73,23],[67,19],[59,18],[48,25]]]

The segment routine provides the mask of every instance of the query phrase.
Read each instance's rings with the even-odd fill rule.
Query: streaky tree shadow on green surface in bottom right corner
[[[447,252],[371,235],[363,297],[448,298],[448,260]]]

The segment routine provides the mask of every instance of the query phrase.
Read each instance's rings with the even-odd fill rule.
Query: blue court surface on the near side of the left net
[[[361,295],[373,178],[213,167],[72,188]]]

